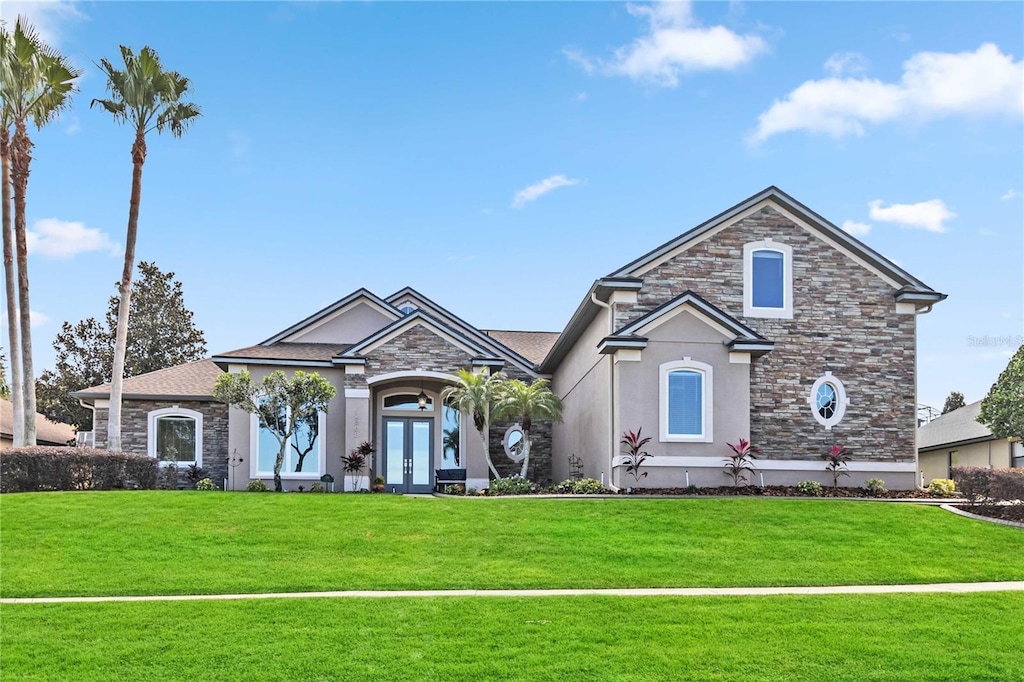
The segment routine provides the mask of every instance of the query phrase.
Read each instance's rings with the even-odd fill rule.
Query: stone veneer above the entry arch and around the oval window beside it
[[[446,340],[424,327],[413,327],[391,341],[375,348],[367,354],[365,374],[346,374],[346,388],[366,388],[367,378],[390,374],[425,370],[454,374],[457,370],[472,370],[472,356],[453,346]],[[517,368],[508,368],[510,378],[529,381],[531,377]],[[502,476],[518,473],[519,464],[505,456],[502,436],[511,422],[490,425],[490,459]],[[475,435],[475,434],[474,434]],[[531,480],[546,482],[551,479],[551,424],[550,421],[536,420],[534,423],[534,451],[529,460]]]

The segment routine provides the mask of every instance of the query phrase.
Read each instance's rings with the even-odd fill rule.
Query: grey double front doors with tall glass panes
[[[384,418],[384,478],[388,493],[432,492],[433,436],[433,418]]]

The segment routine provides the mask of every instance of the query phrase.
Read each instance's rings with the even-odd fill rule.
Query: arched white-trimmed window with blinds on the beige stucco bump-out
[[[660,366],[663,442],[713,442],[712,375],[711,365],[689,357]]]

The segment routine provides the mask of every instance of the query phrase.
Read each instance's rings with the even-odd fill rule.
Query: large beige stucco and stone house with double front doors
[[[551,379],[564,422],[535,424],[530,477],[570,461],[618,487],[618,440],[654,436],[648,486],[719,485],[728,442],[762,451],[760,482],[825,480],[822,454],[852,451],[851,484],[916,483],[918,314],[944,294],[788,195],[767,189],[596,280],[560,333],[481,330],[414,289],[358,290],[256,345],[125,380],[124,446],[202,463],[229,487],[270,478],[276,443],[256,418],[211,398],[219,372],[319,372],[337,396],[291,443],[286,486],[377,446],[388,489],[431,489],[458,465],[487,485],[468,417],[439,399],[459,369]],[[74,395],[105,438],[109,387]],[[445,438],[458,427],[459,438]],[[494,423],[496,465],[518,469],[516,425]],[[365,482],[365,481],[364,481]]]

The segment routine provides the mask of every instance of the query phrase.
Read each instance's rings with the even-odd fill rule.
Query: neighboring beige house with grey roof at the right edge
[[[1020,440],[997,438],[978,421],[981,400],[936,417],[918,429],[918,467],[922,484],[949,478],[951,467],[997,469],[1024,466]]]

